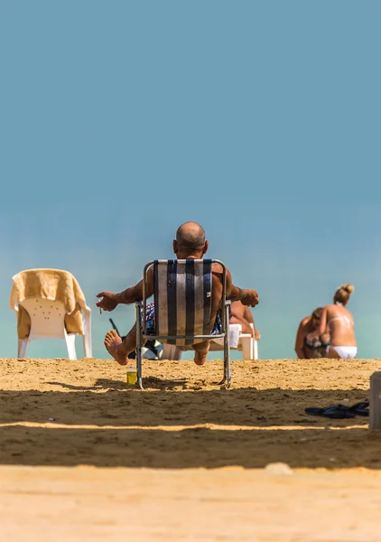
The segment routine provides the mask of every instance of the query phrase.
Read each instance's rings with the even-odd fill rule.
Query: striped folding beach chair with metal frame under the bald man
[[[218,335],[210,335],[212,301],[212,264],[222,266],[222,330]],[[154,260],[144,266],[144,286],[148,269],[153,266],[153,301],[155,334],[146,333],[145,312],[147,299],[145,287],[142,302],[136,306],[136,372],[139,388],[142,383],[142,344],[150,339],[178,345],[190,346],[206,339],[224,341],[224,378],[221,384],[230,387],[229,351],[229,306],[226,299],[226,266],[214,259],[171,259]]]

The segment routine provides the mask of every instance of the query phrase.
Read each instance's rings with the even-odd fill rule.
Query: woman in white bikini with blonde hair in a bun
[[[356,358],[358,346],[354,331],[353,316],[347,309],[353,285],[342,285],[333,296],[333,304],[326,305],[321,313],[319,331],[330,332],[330,346],[327,347],[327,358],[350,360]]]

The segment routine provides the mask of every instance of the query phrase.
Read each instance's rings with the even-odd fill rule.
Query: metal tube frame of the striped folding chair
[[[136,308],[136,373],[137,373],[137,384],[140,389],[144,389],[143,386],[143,372],[142,372],[142,347],[143,341],[156,339],[157,341],[165,342],[176,339],[204,339],[212,341],[213,339],[223,339],[224,340],[224,378],[219,383],[221,386],[226,385],[226,388],[230,388],[231,382],[231,367],[230,367],[230,345],[229,345],[229,310],[230,310],[230,301],[227,300],[227,267],[223,262],[217,259],[210,259],[211,264],[219,264],[222,266],[222,311],[221,311],[221,322],[222,322],[222,332],[218,335],[147,335],[145,328],[145,312],[147,307],[147,297],[146,297],[146,279],[147,272],[149,267],[153,266],[155,263],[167,262],[168,260],[153,260],[148,262],[144,266],[143,270],[143,300],[135,303]],[[197,261],[197,260],[196,260]],[[178,262],[183,263],[186,260],[178,260]]]

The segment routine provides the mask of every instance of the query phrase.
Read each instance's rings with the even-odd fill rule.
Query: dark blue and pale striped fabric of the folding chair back
[[[156,260],[153,263],[156,333],[209,335],[212,295],[210,259]],[[203,339],[169,339],[189,345]]]

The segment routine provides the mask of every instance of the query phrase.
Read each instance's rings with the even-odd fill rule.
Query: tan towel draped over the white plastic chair
[[[68,333],[83,335],[81,310],[86,307],[85,296],[77,279],[60,269],[28,269],[12,277],[14,282],[9,304],[12,310],[18,305],[17,334],[26,339],[31,332],[31,318],[20,304],[31,297],[60,301],[66,311],[65,329]]]

